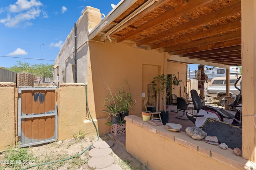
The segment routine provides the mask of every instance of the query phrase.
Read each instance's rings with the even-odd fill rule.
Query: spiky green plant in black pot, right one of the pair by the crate
[[[132,94],[130,90],[130,86],[128,84],[128,80],[125,80],[128,91],[125,90],[124,86],[122,85],[122,88],[120,88],[116,93],[116,101],[118,102],[118,105],[120,106],[120,122],[125,123],[124,117],[129,115],[129,109],[133,108],[134,105],[136,105],[136,100],[132,99]]]

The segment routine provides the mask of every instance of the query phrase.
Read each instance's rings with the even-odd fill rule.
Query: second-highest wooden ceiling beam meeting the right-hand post
[[[202,37],[214,36],[216,34],[220,34],[220,30],[222,30],[221,32],[224,33],[226,31],[231,31],[233,29],[238,29],[238,28],[241,28],[240,20],[229,22],[229,23],[226,23],[224,25],[218,25],[216,27],[206,29],[204,31],[200,31],[198,33],[194,33],[194,34],[190,34],[188,36],[184,36],[180,39],[173,38],[173,39],[170,39],[168,41],[164,41],[163,43],[159,43],[159,44],[156,44],[156,45],[151,45],[150,49],[166,47],[166,46],[169,46],[170,44],[182,43],[182,42],[186,42],[186,41],[193,41],[193,40],[196,40],[196,39],[200,39]]]

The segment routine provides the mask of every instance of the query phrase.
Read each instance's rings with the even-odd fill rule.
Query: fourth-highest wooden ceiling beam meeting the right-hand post
[[[190,48],[184,48],[184,49],[179,49],[179,50],[170,50],[169,54],[170,55],[180,55],[180,54],[186,54],[186,53],[193,53],[197,51],[207,51],[207,50],[214,50],[214,49],[220,49],[223,47],[232,47],[235,45],[241,45],[241,39],[235,39],[232,41],[224,41],[224,42],[219,42],[215,44],[210,44],[210,45],[202,45],[200,47],[190,47]],[[164,49],[160,50],[160,53],[164,52]]]

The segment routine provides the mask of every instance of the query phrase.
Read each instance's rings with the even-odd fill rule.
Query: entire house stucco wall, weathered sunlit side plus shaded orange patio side
[[[143,107],[142,92],[147,96],[147,85],[151,83],[154,76],[158,74],[177,74],[186,72],[186,64],[171,64],[165,53],[159,51],[147,51],[140,48],[131,48],[126,43],[110,43],[88,41],[87,33],[101,20],[100,11],[96,8],[86,7],[83,14],[78,19],[77,26],[77,82],[88,83],[88,105],[93,119],[97,119],[99,133],[109,132],[107,115],[102,112],[104,106],[104,96],[106,95],[104,86],[109,85],[111,90],[116,91],[125,86],[128,80],[133,98],[136,100],[134,109],[129,110],[130,115],[141,115]],[[60,82],[74,82],[74,29],[68,35],[54,64],[58,64]],[[144,69],[146,68],[146,69]],[[144,71],[143,71],[144,70]],[[56,76],[57,68],[54,71]],[[178,76],[178,75],[177,75]],[[181,76],[181,74],[180,74]],[[185,76],[183,78],[185,80]],[[106,83],[105,83],[106,82]],[[104,85],[104,86],[103,86]],[[184,89],[182,85],[182,89]],[[178,92],[180,88],[177,87]],[[60,91],[61,92],[61,91]],[[61,99],[60,99],[61,100]],[[64,108],[63,108],[64,109]],[[66,109],[66,108],[65,108]]]

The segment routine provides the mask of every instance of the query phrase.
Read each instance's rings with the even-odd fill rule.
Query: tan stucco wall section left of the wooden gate
[[[15,86],[0,82],[0,150],[15,145]]]

